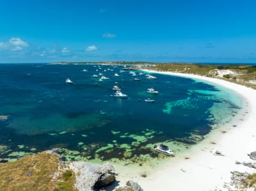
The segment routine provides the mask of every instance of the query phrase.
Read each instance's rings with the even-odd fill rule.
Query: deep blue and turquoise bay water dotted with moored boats
[[[56,147],[68,160],[133,159],[141,154],[154,158],[155,143],[193,145],[241,108],[241,97],[221,87],[163,74],[147,80],[146,73],[135,71],[137,76],[132,76],[122,69],[1,64],[0,158]],[[110,79],[91,77],[98,73]],[[66,78],[73,84],[65,83]],[[113,97],[114,85],[128,98]],[[147,94],[150,87],[159,94]],[[146,98],[155,101],[146,103]]]

